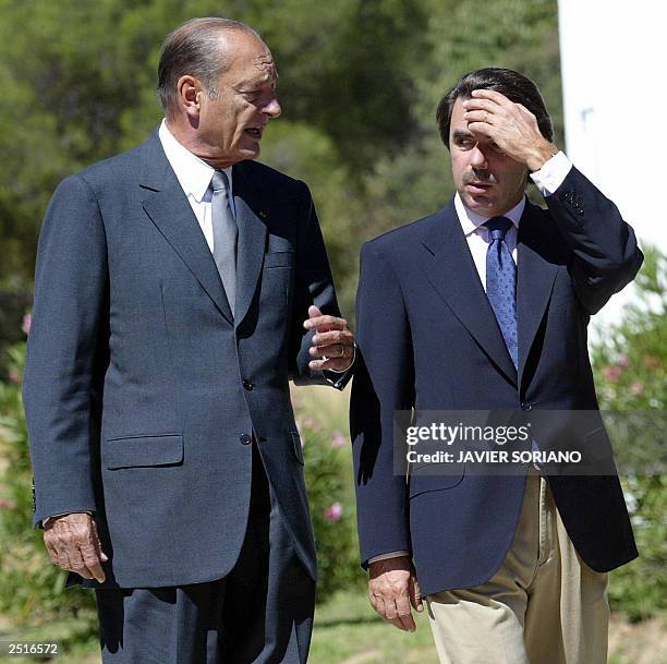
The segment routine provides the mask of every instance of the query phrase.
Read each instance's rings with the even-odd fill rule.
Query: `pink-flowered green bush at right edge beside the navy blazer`
[[[594,349],[603,410],[643,411],[648,420],[667,410],[667,257],[646,250],[636,297],[622,322],[605,330]],[[636,440],[629,442],[630,444]],[[665,612],[667,597],[667,476],[623,479],[640,558],[611,575],[613,607],[634,620]]]

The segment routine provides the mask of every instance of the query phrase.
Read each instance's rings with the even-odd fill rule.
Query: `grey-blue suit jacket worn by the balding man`
[[[46,215],[23,391],[34,518],[94,511],[107,584],[228,574],[253,437],[316,575],[288,382],[326,383],[303,321],[311,304],[339,315],[333,282],[303,182],[244,161],[233,183],[235,319],[157,134],[66,178]]]

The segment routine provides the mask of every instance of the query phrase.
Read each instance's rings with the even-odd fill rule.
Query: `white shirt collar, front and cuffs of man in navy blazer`
[[[535,183],[535,186],[539,190],[539,193],[546,198],[550,196],[567,178],[572,162],[565,156],[563,153],[557,153],[550,159],[544,162],[542,168],[534,173],[531,173],[531,179]],[[476,213],[468,209],[461,201],[461,196],[457,193],[454,195],[454,207],[459,222],[463,229],[468,248],[473,257],[480,280],[486,292],[486,251],[489,244],[489,231],[483,226],[488,217],[482,217]],[[518,205],[512,209],[506,212],[502,216],[511,220],[512,226],[508,229],[505,241],[507,248],[512,254],[514,263],[517,263],[517,240],[519,236],[519,220],[525,208],[525,196],[521,198]],[[392,551],[390,553],[380,554],[368,559],[368,563],[376,563],[377,560],[386,560],[388,558],[398,558],[400,556],[410,555],[407,551]]]

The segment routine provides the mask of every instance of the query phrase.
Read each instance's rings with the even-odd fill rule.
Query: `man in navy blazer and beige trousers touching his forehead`
[[[551,143],[525,76],[468,74],[437,119],[454,198],[361,256],[351,427],[371,603],[412,630],[423,593],[444,664],[603,664],[606,572],[638,555],[616,474],[461,463],[407,481],[395,414],[587,411],[595,425],[571,443],[608,449],[586,327],[642,254],[616,206]],[[546,209],[526,200],[529,178]]]

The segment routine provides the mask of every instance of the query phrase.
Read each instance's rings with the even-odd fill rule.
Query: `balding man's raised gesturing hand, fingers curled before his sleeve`
[[[336,316],[324,316],[312,305],[308,307],[308,318],[304,321],[306,329],[314,329],[311,357],[316,358],[308,363],[311,369],[332,369],[345,371],[352,364],[354,357],[354,335],[348,329],[348,322]]]

